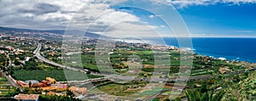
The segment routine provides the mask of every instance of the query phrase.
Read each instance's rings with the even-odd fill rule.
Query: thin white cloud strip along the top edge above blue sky
[[[245,3],[256,3],[256,0],[151,0],[153,3],[174,5],[178,8],[184,8],[193,5],[213,5],[216,3],[227,3],[227,4],[245,4]]]

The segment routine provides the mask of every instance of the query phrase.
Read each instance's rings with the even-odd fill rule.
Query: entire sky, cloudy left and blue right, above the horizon
[[[136,38],[186,31],[195,37],[256,36],[256,0],[0,0],[0,8],[0,26],[15,28]]]

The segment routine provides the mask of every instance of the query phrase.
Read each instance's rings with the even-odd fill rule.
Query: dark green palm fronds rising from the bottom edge
[[[185,94],[188,101],[220,101],[224,96],[224,91],[207,91],[206,93],[201,93],[196,90],[186,90]]]

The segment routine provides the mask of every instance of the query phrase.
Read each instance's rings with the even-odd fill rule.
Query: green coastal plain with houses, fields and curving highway
[[[98,53],[96,43],[108,40],[98,40],[96,35],[84,36],[79,53],[63,55],[63,36],[63,31],[0,27],[1,100],[178,101],[211,97],[218,101],[256,97],[253,63],[137,42],[109,42],[113,49]],[[77,56],[80,66],[79,60],[72,59]],[[111,69],[104,70],[104,56],[109,56]],[[193,60],[192,67],[180,65],[181,58]],[[183,77],[181,69],[187,69],[183,73],[189,77]]]

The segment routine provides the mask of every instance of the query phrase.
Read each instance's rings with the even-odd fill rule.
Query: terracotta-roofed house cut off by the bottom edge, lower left
[[[15,99],[21,101],[39,101],[39,94],[21,94],[15,95]]]

